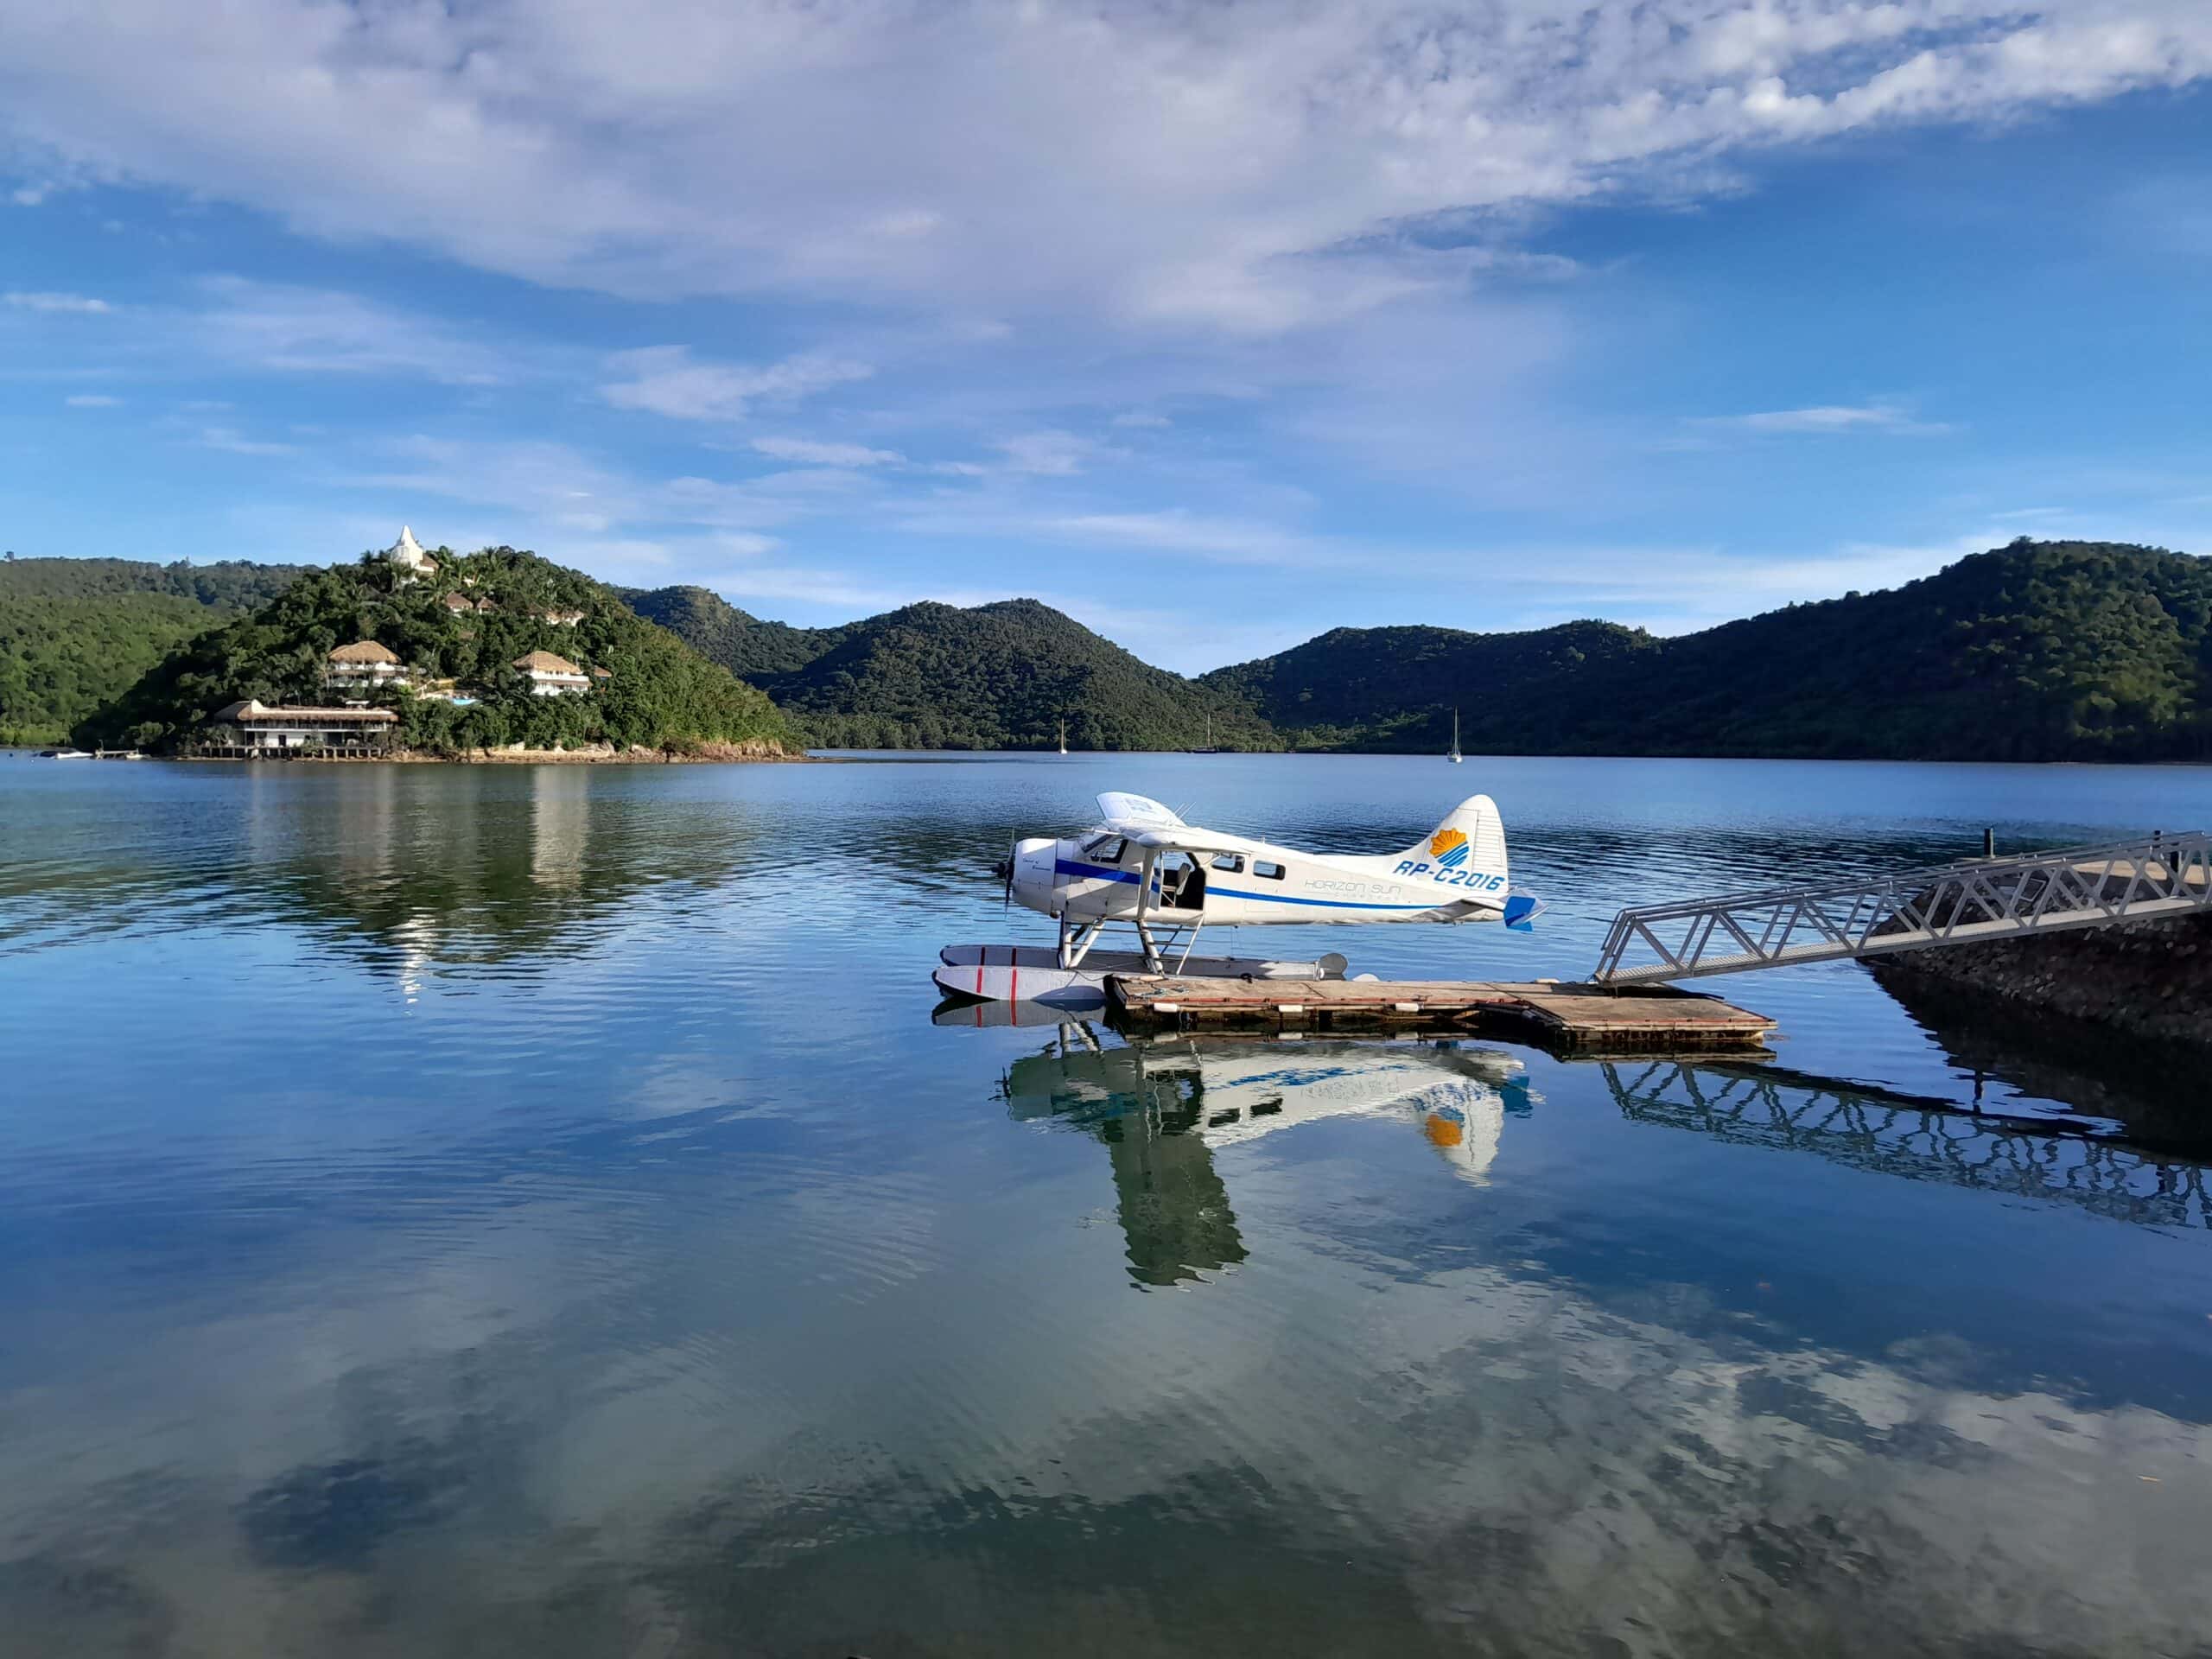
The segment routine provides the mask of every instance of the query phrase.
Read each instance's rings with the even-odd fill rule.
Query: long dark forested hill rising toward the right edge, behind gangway
[[[1338,628],[1203,684],[1310,748],[1955,761],[2212,759],[2212,562],[2013,542],[1887,593],[1677,639]]]

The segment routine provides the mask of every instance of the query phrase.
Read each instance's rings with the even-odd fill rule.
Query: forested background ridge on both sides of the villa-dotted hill
[[[449,555],[451,557],[451,555]],[[471,555],[473,557],[473,555]],[[349,568],[349,566],[334,566]],[[557,566],[549,566],[557,568]],[[133,664],[316,566],[0,564],[0,739],[49,741]],[[564,573],[588,582],[580,573]],[[1332,628],[1172,675],[1037,599],[918,602],[834,628],[697,588],[604,588],[765,692],[816,748],[1298,748],[1940,761],[2212,759],[2212,562],[2031,542],[1659,637],[1615,622]]]

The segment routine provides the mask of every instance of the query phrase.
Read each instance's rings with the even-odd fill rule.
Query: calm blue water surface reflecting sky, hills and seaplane
[[[1363,852],[1489,790],[1533,936],[1248,936],[1387,975],[2212,823],[2194,770],[0,759],[0,1652],[2203,1652],[2188,1073],[1849,964],[1732,987],[1778,1071],[936,1022],[1104,787]]]

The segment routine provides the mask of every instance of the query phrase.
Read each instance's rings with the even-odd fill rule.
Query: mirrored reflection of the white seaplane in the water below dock
[[[1106,1048],[1088,1026],[1006,1071],[1015,1119],[1106,1144],[1130,1272],[1172,1285],[1245,1259],[1214,1155],[1325,1117],[1396,1117],[1453,1175],[1486,1186],[1509,1115],[1528,1110],[1511,1055],[1451,1044],[1172,1037]]]

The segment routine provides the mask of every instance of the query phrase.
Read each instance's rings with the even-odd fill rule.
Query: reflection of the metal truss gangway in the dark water
[[[1601,1064],[1615,1104],[1639,1124],[1743,1146],[1816,1152],[1880,1175],[1982,1192],[2064,1199],[2146,1228],[2212,1228],[2205,1168],[2159,1159],[2064,1124],[1993,1121],[1966,1108],[1752,1068]]]

